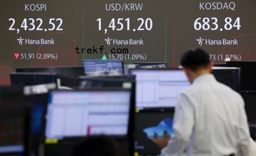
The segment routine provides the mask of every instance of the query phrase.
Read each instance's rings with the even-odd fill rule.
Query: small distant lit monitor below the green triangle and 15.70
[[[122,60],[83,60],[84,73],[94,71],[112,71],[121,70],[124,73],[124,65]]]

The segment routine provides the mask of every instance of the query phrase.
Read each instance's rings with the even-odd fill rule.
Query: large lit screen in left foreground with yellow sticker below
[[[64,139],[105,134],[126,136],[130,91],[52,91],[45,136]]]

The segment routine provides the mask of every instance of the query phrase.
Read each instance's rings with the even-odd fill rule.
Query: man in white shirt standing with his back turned
[[[177,100],[174,135],[161,156],[253,156],[244,101],[210,74],[209,55],[195,49],[181,58],[191,87]]]

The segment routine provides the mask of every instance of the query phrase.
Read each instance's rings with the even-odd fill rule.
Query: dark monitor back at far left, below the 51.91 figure
[[[53,73],[10,73],[12,86],[40,85],[57,83],[57,75]]]

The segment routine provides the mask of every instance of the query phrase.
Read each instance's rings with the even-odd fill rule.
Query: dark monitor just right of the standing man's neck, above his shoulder
[[[213,67],[212,74],[218,82],[221,82],[235,91],[239,91],[240,68]]]

